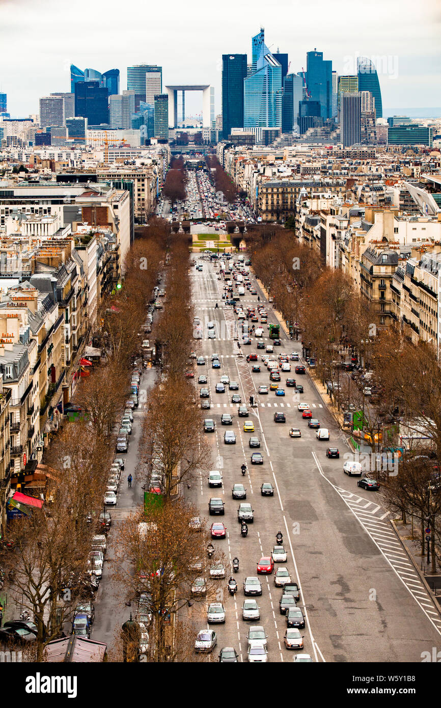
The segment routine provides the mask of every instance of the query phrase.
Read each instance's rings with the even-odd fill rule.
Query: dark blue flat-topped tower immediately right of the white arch
[[[244,127],[246,74],[246,54],[222,55],[222,137],[225,140],[231,135],[231,128]]]

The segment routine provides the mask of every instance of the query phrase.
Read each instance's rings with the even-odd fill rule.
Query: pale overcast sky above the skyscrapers
[[[14,117],[38,113],[38,98],[70,90],[70,64],[105,72],[159,64],[163,84],[212,84],[220,111],[222,54],[247,53],[265,28],[271,50],[288,52],[290,72],[306,52],[323,52],[340,74],[357,55],[386,57],[377,67],[383,115],[441,105],[441,3],[438,0],[0,0],[0,91]],[[249,59],[248,59],[249,61]],[[186,95],[189,114],[200,93]]]

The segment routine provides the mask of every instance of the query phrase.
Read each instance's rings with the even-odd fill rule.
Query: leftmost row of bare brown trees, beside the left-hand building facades
[[[13,550],[0,561],[13,572],[10,595],[29,610],[38,639],[30,659],[41,661],[45,645],[71,619],[85,592],[91,538],[103,510],[103,494],[113,462],[112,426],[130,380],[130,360],[139,350],[146,303],[164,261],[169,229],[154,219],[127,256],[125,282],[102,304],[97,336],[103,363],[81,379],[74,396],[84,418],[65,423],[43,462],[46,488],[42,508],[11,521]]]

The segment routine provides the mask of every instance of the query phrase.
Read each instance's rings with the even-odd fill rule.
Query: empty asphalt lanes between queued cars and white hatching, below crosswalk
[[[268,430],[294,552],[299,568],[308,569],[302,587],[321,651],[327,661],[418,661],[423,636],[435,641],[435,629],[311,464],[309,443],[296,442],[287,466],[280,436]]]

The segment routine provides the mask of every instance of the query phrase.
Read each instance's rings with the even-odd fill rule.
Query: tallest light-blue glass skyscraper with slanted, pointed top
[[[282,67],[265,45],[263,29],[253,37],[253,67],[244,79],[244,127],[282,128]]]

